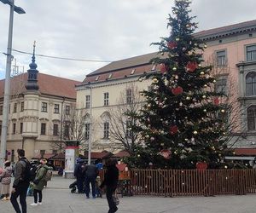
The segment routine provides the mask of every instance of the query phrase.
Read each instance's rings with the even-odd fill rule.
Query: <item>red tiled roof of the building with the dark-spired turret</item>
[[[4,81],[0,80],[0,97],[4,93]],[[17,75],[10,79],[10,95],[17,95],[26,92],[27,72]],[[38,73],[39,92],[43,95],[55,95],[67,98],[76,98],[75,85],[79,81],[73,81],[67,78],[60,78],[44,73]]]

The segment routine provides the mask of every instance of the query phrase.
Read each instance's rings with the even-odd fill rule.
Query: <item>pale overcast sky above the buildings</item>
[[[16,0],[26,14],[15,14],[13,49],[83,60],[121,60],[157,51],[166,37],[174,0]],[[199,30],[256,19],[255,0],[192,0]],[[0,2],[0,79],[5,76],[9,6]],[[25,72],[31,55],[13,52]],[[37,56],[38,71],[82,81],[106,63]]]

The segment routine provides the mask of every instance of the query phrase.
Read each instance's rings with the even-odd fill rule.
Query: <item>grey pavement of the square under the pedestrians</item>
[[[28,213],[107,213],[106,199],[85,199],[84,194],[73,194],[68,189],[70,179],[53,177],[43,191],[43,204],[30,206]],[[256,194],[243,196],[158,198],[132,196],[120,198],[120,213],[253,213],[256,212]],[[0,201],[0,212],[15,212],[9,201]]]

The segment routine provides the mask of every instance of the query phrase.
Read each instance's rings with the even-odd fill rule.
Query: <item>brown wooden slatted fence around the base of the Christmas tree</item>
[[[103,178],[103,173],[101,174]],[[214,196],[256,193],[256,170],[131,170],[121,174],[123,195]]]

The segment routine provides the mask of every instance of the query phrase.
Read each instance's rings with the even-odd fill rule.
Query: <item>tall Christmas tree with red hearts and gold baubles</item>
[[[207,48],[193,37],[197,24],[189,16],[188,0],[176,0],[167,26],[170,37],[163,37],[159,57],[152,63],[158,72],[143,78],[152,80],[151,89],[144,90],[146,104],[139,116],[143,146],[137,155],[127,159],[138,168],[195,169],[199,162],[208,168],[224,166],[226,128],[223,93],[215,92],[216,80],[211,66],[204,66],[203,50]]]

